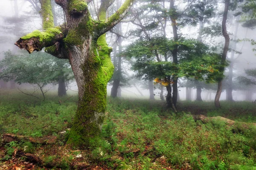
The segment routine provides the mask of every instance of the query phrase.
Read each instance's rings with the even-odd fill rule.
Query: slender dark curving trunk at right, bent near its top
[[[228,46],[229,46],[229,42],[230,42],[230,37],[227,34],[227,27],[226,27],[226,21],[227,21],[227,12],[228,12],[228,7],[229,7],[229,0],[225,0],[225,8],[224,8],[224,14],[223,14],[223,20],[222,20],[222,34],[225,38],[225,46],[223,49],[223,53],[222,53],[222,57],[221,57],[221,66],[220,66],[220,71],[224,74],[224,64],[226,62],[226,57],[227,57],[227,51],[228,51]],[[216,92],[216,96],[215,96],[215,107],[219,108],[221,107],[220,105],[220,97],[221,97],[221,91],[222,91],[222,77],[219,78],[218,81],[218,90]]]

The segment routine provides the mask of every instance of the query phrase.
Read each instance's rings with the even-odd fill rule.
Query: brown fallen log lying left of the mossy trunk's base
[[[41,144],[54,144],[57,140],[57,136],[46,136],[42,138],[32,138],[22,135],[15,135],[10,133],[3,134],[3,141],[12,142],[12,141],[29,141],[32,143],[41,143]]]

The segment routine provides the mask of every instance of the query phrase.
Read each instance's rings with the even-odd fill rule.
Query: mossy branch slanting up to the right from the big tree
[[[99,23],[97,27],[98,35],[100,36],[106,33],[107,31],[111,30],[111,28],[113,28],[114,26],[116,26],[116,24],[119,23],[125,17],[133,3],[134,0],[125,0],[123,5],[113,15],[111,15],[111,17],[105,20],[105,22]]]

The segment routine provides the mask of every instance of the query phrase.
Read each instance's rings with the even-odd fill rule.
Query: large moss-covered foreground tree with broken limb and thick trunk
[[[113,74],[111,48],[105,33],[128,12],[134,0],[123,5],[106,19],[106,11],[113,3],[101,0],[99,20],[93,20],[84,0],[55,0],[65,13],[66,24],[54,27],[51,0],[40,0],[43,31],[33,31],[15,44],[29,53],[47,47],[47,52],[70,61],[79,89],[78,108],[67,144],[89,145],[98,138],[106,108],[107,83]]]

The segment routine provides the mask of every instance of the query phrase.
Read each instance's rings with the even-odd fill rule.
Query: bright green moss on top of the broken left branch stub
[[[48,44],[51,44],[53,40],[55,40],[55,36],[57,34],[62,34],[59,27],[47,28],[44,31],[35,30],[32,33],[25,35],[24,37],[21,37],[21,40],[29,40],[35,37],[39,38],[40,43],[44,43],[44,45],[47,46]]]

